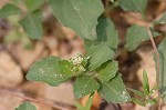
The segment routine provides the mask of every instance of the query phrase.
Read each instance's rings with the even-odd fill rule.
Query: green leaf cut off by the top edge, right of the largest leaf
[[[147,0],[120,0],[120,6],[125,11],[144,13],[147,6]]]

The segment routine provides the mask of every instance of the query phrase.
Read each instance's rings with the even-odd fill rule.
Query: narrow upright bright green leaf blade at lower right
[[[148,83],[148,77],[147,77],[146,70],[144,70],[144,72],[143,72],[143,89],[144,89],[144,93],[146,96],[148,96],[148,93],[149,93],[149,83]]]

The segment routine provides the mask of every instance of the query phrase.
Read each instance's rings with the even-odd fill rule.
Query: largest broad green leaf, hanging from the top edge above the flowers
[[[58,20],[80,37],[95,40],[97,18],[104,11],[101,0],[49,0]]]

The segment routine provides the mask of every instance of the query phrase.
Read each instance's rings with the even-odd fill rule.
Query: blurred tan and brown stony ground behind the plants
[[[6,4],[8,0],[0,0],[0,7]],[[63,59],[70,59],[77,51],[85,53],[84,44],[74,31],[61,26],[52,16],[49,7],[43,7],[43,39],[32,41],[27,37],[18,38],[8,34],[14,30],[7,19],[0,19],[0,110],[14,110],[22,101],[22,97],[30,97],[38,100],[49,100],[60,107],[65,107],[73,110],[76,101],[85,103],[86,98],[75,100],[73,94],[72,81],[65,82],[59,87],[50,87],[42,82],[30,82],[25,80],[25,73],[32,63],[37,60],[48,57],[56,56]],[[149,0],[147,8],[148,20],[153,20],[159,13],[166,10],[166,0],[155,1]],[[138,13],[131,13],[136,18],[141,18]],[[126,12],[116,8],[111,12],[111,18],[115,22],[116,29],[120,33],[120,49],[124,51],[120,54],[120,72],[123,76],[124,82],[128,88],[142,90],[142,73],[145,68],[148,73],[149,84],[156,84],[156,70],[153,58],[153,48],[149,41],[143,42],[136,51],[128,52],[122,47],[125,43],[126,29],[133,24],[138,23],[134,19],[127,17]],[[158,43],[163,37],[155,39]],[[7,92],[8,91],[8,92]],[[14,93],[14,94],[13,94]],[[155,94],[156,96],[156,94]],[[155,97],[154,96],[154,97]],[[134,96],[133,96],[134,97]],[[34,103],[39,110],[59,110],[42,103]],[[104,107],[102,107],[104,104]],[[157,110],[157,106],[152,108],[143,108],[132,102],[120,104],[122,110]],[[113,108],[113,103],[106,103],[103,99],[95,94],[93,102],[93,110],[120,110]],[[162,110],[166,110],[163,106]]]

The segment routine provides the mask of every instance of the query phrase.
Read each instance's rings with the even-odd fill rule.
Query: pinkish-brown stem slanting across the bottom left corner
[[[37,100],[37,99],[33,99],[33,98],[30,98],[30,97],[18,94],[17,92],[6,90],[6,89],[0,89],[0,93],[6,93],[6,94],[13,96],[13,97],[18,97],[18,98],[21,98],[21,99],[27,100],[27,101],[42,103],[42,104],[53,107],[53,108],[59,109],[59,110],[71,110],[71,109],[74,110],[74,108],[72,108],[72,107],[70,109],[69,109],[69,107],[64,108],[62,106],[55,104],[54,102],[48,102],[48,101],[44,101],[44,100]]]

